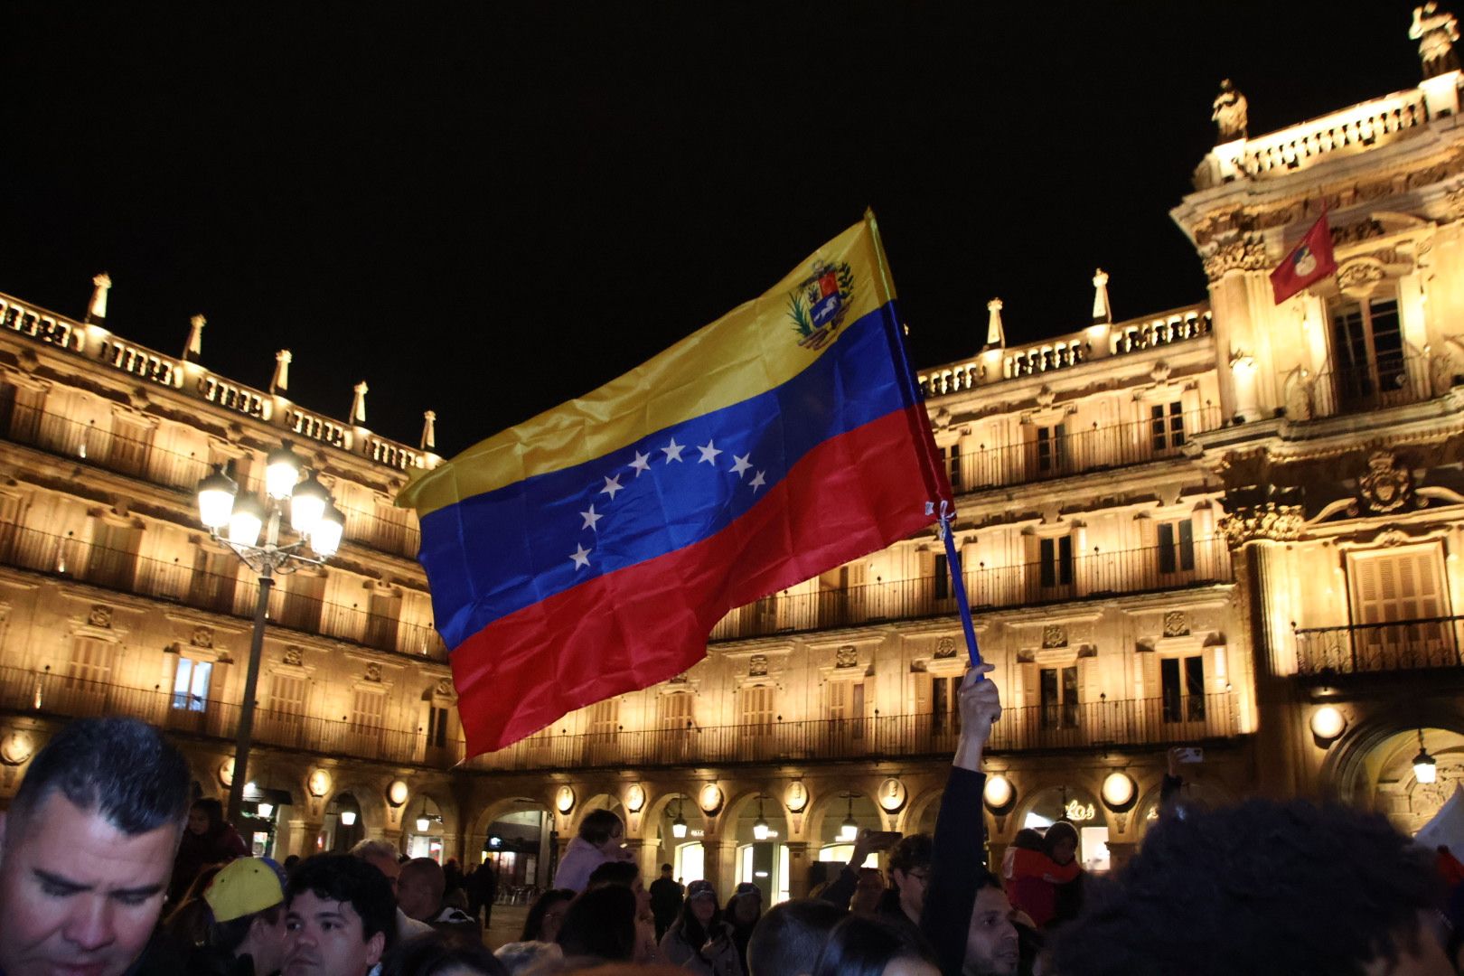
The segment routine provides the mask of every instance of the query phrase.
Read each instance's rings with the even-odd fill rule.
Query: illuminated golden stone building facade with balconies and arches
[[[1337,796],[1404,828],[1464,776],[1458,83],[1256,138],[1222,92],[1225,142],[1173,211],[1203,300],[1116,320],[1098,272],[1080,328],[1009,347],[993,300],[979,351],[921,373],[1007,705],[993,853],[1069,817],[1091,866],[1121,860],[1171,745],[1203,751],[1195,800]],[[1277,304],[1268,274],[1323,205],[1338,272]],[[253,581],[192,489],[224,462],[258,489],[288,438],[348,519],[271,612],[250,771],[269,850],[379,836],[543,885],[609,806],[647,869],[783,897],[851,824],[931,828],[965,672],[934,534],[733,612],[675,680],[464,761],[416,527],[391,505],[438,462],[430,417],[413,449],[365,426],[365,388],[348,421],[294,405],[287,353],[258,391],[129,344],[105,287],[83,320],[0,299],[4,792],[57,721],[124,713],[223,793]]]

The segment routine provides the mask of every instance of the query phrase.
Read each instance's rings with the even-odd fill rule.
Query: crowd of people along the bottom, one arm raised
[[[1086,878],[1078,834],[1022,831],[985,855],[982,752],[1000,714],[984,675],[934,836],[862,831],[804,898],[719,903],[671,865],[650,885],[624,824],[589,814],[521,938],[485,947],[492,891],[455,860],[385,841],[278,865],[249,856],[152,727],[82,720],[32,759],[0,818],[0,976],[1445,976],[1464,958],[1464,866],[1381,817],[1249,800],[1187,806],[1177,770],[1142,849]],[[889,846],[889,881],[865,866]],[[1441,865],[1449,868],[1441,871]],[[1452,887],[1451,887],[1452,882]]]

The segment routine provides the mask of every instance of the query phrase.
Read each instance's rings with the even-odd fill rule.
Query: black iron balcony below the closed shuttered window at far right
[[[1458,667],[1464,616],[1420,617],[1392,623],[1300,628],[1297,673],[1367,675],[1429,667]]]

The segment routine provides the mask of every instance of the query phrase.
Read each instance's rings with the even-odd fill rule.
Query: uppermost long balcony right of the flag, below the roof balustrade
[[[1006,484],[1031,484],[1053,478],[1123,468],[1149,461],[1177,458],[1196,433],[1220,427],[1220,407],[1183,414],[1164,414],[1139,423],[1061,430],[1048,439],[1032,439],[1003,448],[962,454],[947,462],[950,487],[957,493],[982,492]],[[1023,427],[1023,430],[1035,430]]]

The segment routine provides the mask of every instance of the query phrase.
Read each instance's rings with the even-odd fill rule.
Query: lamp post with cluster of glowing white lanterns
[[[237,822],[249,781],[249,749],[255,733],[255,695],[259,686],[259,656],[265,645],[265,617],[275,577],[302,566],[319,566],[335,555],[346,530],[346,517],[335,508],[331,493],[315,474],[300,480],[300,457],[285,440],[265,458],[265,498],[239,496],[239,486],[223,468],[198,483],[199,521],[208,534],[228,546],[239,559],[259,575],[259,600],[255,604],[255,629],[249,641],[249,670],[244,697],[239,707],[239,733],[234,739],[234,777],[228,784],[230,822]],[[299,538],[280,544],[280,522],[285,502],[290,528]],[[223,530],[223,533],[220,531]],[[259,534],[264,533],[264,544]],[[313,555],[305,555],[305,547]]]

